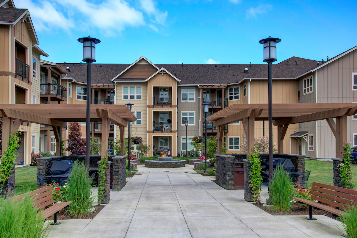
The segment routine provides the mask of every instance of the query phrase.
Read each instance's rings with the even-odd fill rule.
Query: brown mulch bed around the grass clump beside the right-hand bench
[[[300,204],[296,204],[292,206],[292,209],[288,212],[275,212],[272,209],[267,209],[265,207],[263,207],[262,203],[253,203],[255,206],[259,207],[260,209],[266,211],[269,214],[272,214],[273,216],[297,216],[297,215],[306,215],[307,217],[309,216],[309,207],[301,207]],[[329,206],[329,207],[333,207],[330,206],[326,203],[321,203],[323,205]],[[333,207],[336,208],[336,207]],[[340,221],[340,219],[338,217],[333,217],[331,213],[326,212],[326,211],[322,211],[322,210],[316,210],[316,209],[312,209],[312,215],[324,215],[326,217],[330,217],[332,219],[335,219],[337,221]]]

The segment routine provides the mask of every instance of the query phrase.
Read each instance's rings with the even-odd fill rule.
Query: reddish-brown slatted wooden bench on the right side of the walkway
[[[316,220],[316,218],[312,217],[312,209],[323,210],[332,213],[333,216],[342,217],[346,216],[346,213],[340,210],[341,208],[346,209],[350,206],[357,206],[357,191],[323,183],[312,183],[311,198],[317,202],[302,198],[293,198],[299,203],[309,205],[309,217],[306,218],[308,220]],[[336,208],[323,205],[321,202]]]

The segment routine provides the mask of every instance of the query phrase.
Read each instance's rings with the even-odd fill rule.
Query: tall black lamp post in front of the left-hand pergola
[[[86,166],[89,168],[89,153],[90,153],[90,80],[91,80],[91,63],[96,62],[95,60],[95,44],[98,44],[100,40],[93,37],[83,37],[78,39],[79,42],[83,43],[83,62],[87,62],[87,114],[86,114]],[[85,92],[82,92],[85,94]]]

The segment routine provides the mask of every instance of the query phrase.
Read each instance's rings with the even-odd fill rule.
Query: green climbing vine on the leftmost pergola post
[[[6,183],[6,180],[11,175],[11,169],[14,167],[15,159],[19,155],[17,148],[19,147],[20,132],[15,132],[10,136],[9,146],[4,152],[4,156],[0,160],[0,186]]]

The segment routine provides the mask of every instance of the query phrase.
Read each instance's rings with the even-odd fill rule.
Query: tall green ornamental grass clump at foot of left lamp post
[[[87,168],[84,163],[75,161],[69,178],[66,201],[73,201],[69,212],[74,216],[85,216],[89,214],[92,207],[94,195],[92,194],[91,179],[88,177]]]

